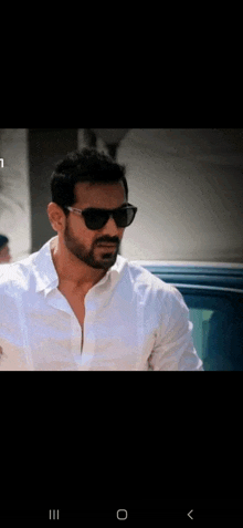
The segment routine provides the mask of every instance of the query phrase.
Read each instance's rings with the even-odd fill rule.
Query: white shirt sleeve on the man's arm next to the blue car
[[[189,309],[180,291],[170,287],[160,301],[161,324],[149,356],[149,370],[203,371],[193,346]]]

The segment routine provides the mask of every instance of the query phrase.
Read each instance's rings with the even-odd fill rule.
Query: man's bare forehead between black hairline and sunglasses
[[[91,184],[82,182],[75,186],[75,206],[78,207],[104,207],[115,209],[126,204],[126,195],[123,182],[114,184]]]

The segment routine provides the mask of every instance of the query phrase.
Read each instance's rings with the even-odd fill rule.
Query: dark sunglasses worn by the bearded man
[[[127,206],[119,207],[118,209],[95,209],[88,207],[87,209],[76,209],[75,207],[65,206],[65,209],[68,209],[73,213],[77,213],[80,216],[84,217],[85,225],[88,229],[102,229],[109,217],[112,216],[117,225],[117,227],[127,227],[135,219],[137,213],[137,207],[128,204]]]

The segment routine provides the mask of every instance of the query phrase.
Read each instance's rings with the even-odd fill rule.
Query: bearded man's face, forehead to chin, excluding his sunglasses
[[[77,209],[87,207],[116,209],[126,204],[123,183],[96,185],[78,183],[75,187],[75,196],[76,201],[73,207]],[[103,228],[91,230],[86,227],[83,216],[70,211],[63,241],[68,251],[87,266],[107,270],[116,261],[124,229],[118,228],[110,217]],[[99,247],[101,242],[115,242],[115,246]]]

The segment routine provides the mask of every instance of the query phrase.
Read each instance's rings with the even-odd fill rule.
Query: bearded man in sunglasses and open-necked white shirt
[[[137,213],[125,167],[70,153],[51,191],[57,236],[0,273],[2,370],[203,370],[182,296],[118,255]]]

